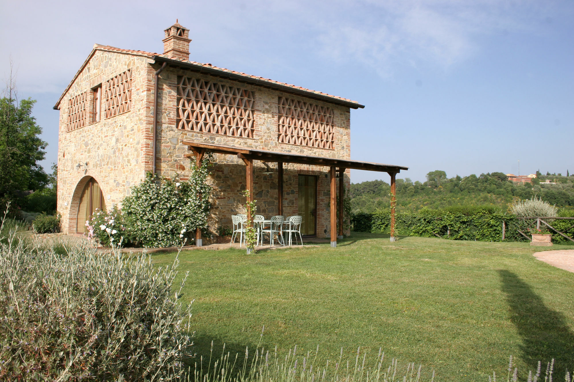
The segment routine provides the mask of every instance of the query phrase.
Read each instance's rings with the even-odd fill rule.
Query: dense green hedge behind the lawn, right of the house
[[[390,232],[390,210],[360,213],[352,219],[357,232]],[[397,235],[443,237],[452,240],[502,241],[502,223],[506,223],[505,241],[526,241],[517,231],[517,219],[496,209],[422,209],[417,212],[397,212]]]

